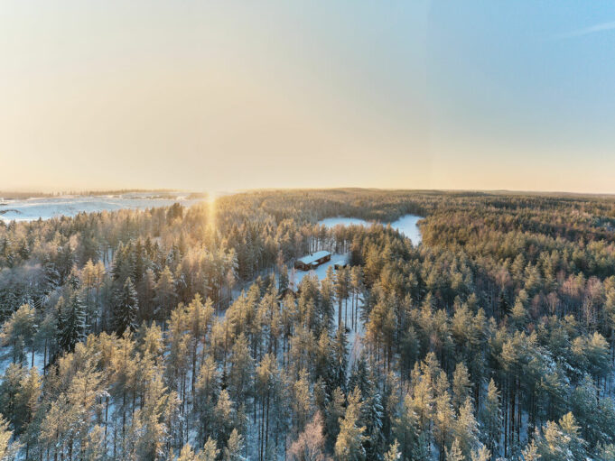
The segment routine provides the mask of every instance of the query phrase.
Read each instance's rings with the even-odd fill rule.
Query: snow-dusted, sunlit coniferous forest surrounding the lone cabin
[[[386,225],[406,214],[421,244]],[[294,286],[320,250],[348,266]],[[612,197],[277,190],[0,222],[0,325],[3,461],[615,459]]]

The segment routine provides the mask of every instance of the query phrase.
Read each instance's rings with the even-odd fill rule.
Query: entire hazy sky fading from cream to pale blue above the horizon
[[[615,5],[0,3],[0,190],[615,192]]]

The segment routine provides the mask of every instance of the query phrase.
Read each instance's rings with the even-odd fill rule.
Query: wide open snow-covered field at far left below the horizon
[[[105,196],[60,196],[7,200],[0,198],[0,220],[33,221],[38,218],[73,217],[81,212],[97,213],[118,209],[167,207],[173,203],[191,206],[200,199],[187,198],[181,192],[135,192]]]

